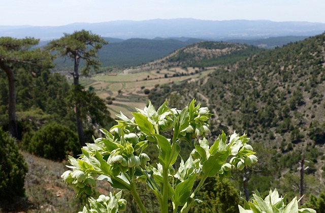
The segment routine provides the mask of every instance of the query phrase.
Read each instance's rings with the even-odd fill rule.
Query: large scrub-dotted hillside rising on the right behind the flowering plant
[[[196,97],[214,109],[212,134],[223,129],[251,137],[259,167],[249,172],[250,191],[277,187],[299,195],[298,162],[310,161],[308,197],[325,186],[324,91],[325,34],[320,34],[218,69],[182,85],[169,100],[178,107]]]

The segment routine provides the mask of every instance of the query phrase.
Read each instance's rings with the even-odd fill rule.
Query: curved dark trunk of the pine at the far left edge
[[[9,134],[15,138],[18,138],[16,119],[16,85],[14,72],[8,65],[6,65],[2,61],[0,61],[0,67],[5,70],[9,82]]]

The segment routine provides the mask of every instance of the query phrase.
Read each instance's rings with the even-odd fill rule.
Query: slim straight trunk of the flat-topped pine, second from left
[[[73,73],[73,84],[79,85],[79,56],[75,57],[75,65],[74,65],[74,73]],[[78,101],[78,99],[77,99]],[[77,102],[75,105],[76,108],[76,121],[77,121],[77,129],[78,129],[78,137],[79,137],[79,143],[81,146],[86,146],[86,139],[85,134],[82,127],[82,121],[80,119],[80,103]]]

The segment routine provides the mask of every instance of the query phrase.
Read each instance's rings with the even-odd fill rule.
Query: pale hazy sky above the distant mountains
[[[325,0],[0,0],[0,25],[195,18],[325,23]]]

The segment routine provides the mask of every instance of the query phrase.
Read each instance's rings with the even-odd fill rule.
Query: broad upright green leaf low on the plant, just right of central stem
[[[196,174],[192,174],[184,182],[181,182],[176,186],[174,192],[174,203],[176,208],[179,205],[185,204],[187,198],[190,196],[196,176]]]

